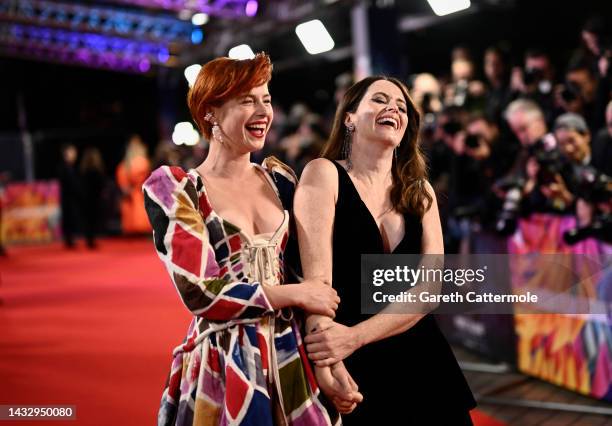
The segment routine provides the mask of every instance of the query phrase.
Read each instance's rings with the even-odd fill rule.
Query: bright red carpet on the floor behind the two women
[[[149,239],[12,248],[0,280],[0,404],[75,405],[63,424],[155,424],[189,314]]]

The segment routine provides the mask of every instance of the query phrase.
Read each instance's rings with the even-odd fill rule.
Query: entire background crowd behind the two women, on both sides
[[[447,74],[410,77],[447,252],[505,252],[506,237],[532,213],[573,216],[576,229],[566,230],[560,237],[564,243],[612,240],[608,32],[601,19],[587,21],[579,46],[563,65],[542,49],[527,49],[517,65],[500,46],[482,52],[482,61],[476,52],[457,47]],[[335,104],[352,83],[349,73],[336,78]],[[252,160],[261,163],[274,155],[300,176],[323,151],[335,105],[318,112],[304,103],[288,111],[273,106],[266,145]],[[193,168],[208,150],[206,142],[186,147],[162,141],[149,158],[146,146],[138,136],[129,139],[110,185],[97,148],[80,155],[74,145],[62,148],[58,177],[67,247],[73,246],[75,232],[90,247],[99,233],[148,232],[140,192],[146,176],[163,164]]]

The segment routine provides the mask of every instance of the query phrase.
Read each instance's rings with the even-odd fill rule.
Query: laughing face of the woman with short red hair
[[[224,144],[241,154],[262,149],[274,118],[268,85],[254,87],[249,93],[228,100],[214,108],[213,113]]]

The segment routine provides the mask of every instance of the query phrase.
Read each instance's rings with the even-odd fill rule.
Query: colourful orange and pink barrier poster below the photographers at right
[[[574,245],[563,233],[575,227],[572,217],[533,215],[522,221],[509,244],[519,254],[511,265],[513,287],[530,286],[589,300],[590,306],[612,303],[612,246],[594,238]],[[555,267],[542,256],[557,254]],[[598,266],[599,265],[599,266]],[[579,283],[576,286],[575,283]],[[560,299],[561,300],[561,299]],[[515,315],[517,364],[520,371],[594,398],[612,401],[612,317],[609,314],[542,312]]]

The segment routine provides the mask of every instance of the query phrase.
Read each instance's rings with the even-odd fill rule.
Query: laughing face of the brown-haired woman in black
[[[408,124],[402,90],[390,81],[375,81],[368,87],[357,110],[347,113],[345,124],[355,126],[355,135],[396,147]]]

